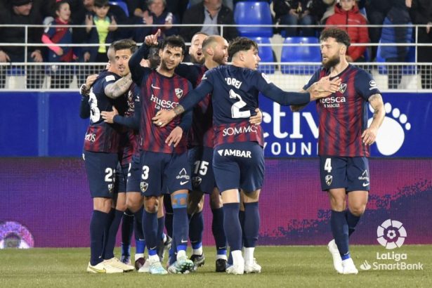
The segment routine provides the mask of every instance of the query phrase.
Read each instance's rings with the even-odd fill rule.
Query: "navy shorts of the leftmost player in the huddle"
[[[116,191],[117,153],[84,151],[87,180],[92,198],[112,198]]]

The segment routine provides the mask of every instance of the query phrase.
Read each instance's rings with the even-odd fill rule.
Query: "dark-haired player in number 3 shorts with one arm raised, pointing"
[[[140,119],[140,190],[144,196],[143,230],[148,247],[148,272],[166,274],[157,255],[159,239],[157,230],[157,211],[162,195],[168,190],[174,208],[174,242],[178,251],[176,273],[185,273],[193,267],[185,253],[188,243],[187,196],[190,189],[190,167],[188,166],[186,142],[187,131],[192,114],[185,115],[185,122],[177,122],[161,129],[151,123],[150,114],[167,107],[174,107],[178,100],[191,89],[187,79],[174,73],[176,66],[183,60],[185,46],[183,39],[168,37],[159,50],[161,63],[156,70],[139,65],[143,55],[148,54],[148,46],[157,44],[159,31],[145,37],[145,44],[134,54],[129,62],[131,79],[140,86],[140,110],[136,117]],[[163,142],[166,137],[173,137],[173,144]]]

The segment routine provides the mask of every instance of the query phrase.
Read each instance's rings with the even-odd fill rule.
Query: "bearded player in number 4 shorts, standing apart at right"
[[[322,68],[303,89],[322,77],[339,77],[339,91],[316,100],[320,119],[318,154],[322,190],[327,191],[332,208],[330,226],[334,240],[328,244],[334,268],[341,274],[357,274],[348,249],[348,240],[369,195],[369,145],[374,143],[385,111],[381,93],[372,76],[346,61],[348,34],[337,28],[324,30],[320,37]],[[367,105],[374,109],[367,128]],[[301,106],[292,106],[298,111]],[[348,209],[346,209],[348,199]]]

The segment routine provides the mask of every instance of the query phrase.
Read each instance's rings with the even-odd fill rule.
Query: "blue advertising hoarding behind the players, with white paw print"
[[[386,117],[372,157],[432,157],[432,94],[383,93],[383,98]],[[0,156],[79,157],[89,123],[79,118],[80,99],[78,92],[0,93]],[[292,113],[261,96],[260,107],[266,157],[316,157],[315,103]]]

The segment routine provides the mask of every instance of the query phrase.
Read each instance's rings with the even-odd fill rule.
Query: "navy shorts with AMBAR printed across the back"
[[[219,191],[258,190],[264,179],[264,152],[256,142],[218,145],[214,148],[213,169]]]

